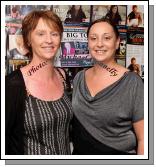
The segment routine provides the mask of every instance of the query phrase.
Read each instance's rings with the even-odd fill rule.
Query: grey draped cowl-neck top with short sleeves
[[[73,112],[84,128],[103,144],[135,153],[132,123],[144,118],[144,85],[140,76],[126,72],[94,97],[87,88],[85,70],[76,75],[73,84]]]

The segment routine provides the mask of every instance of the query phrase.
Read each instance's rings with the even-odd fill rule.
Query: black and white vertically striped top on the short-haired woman
[[[29,95],[25,104],[24,154],[71,154],[69,124],[72,111],[66,94],[55,101],[43,101]]]

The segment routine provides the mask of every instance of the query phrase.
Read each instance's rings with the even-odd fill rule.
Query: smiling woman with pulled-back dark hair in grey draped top
[[[73,81],[73,154],[144,154],[144,85],[115,61],[119,32],[99,19],[87,31],[93,67]]]

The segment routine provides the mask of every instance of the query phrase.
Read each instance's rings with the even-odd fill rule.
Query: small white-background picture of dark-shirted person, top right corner
[[[127,6],[127,25],[130,27],[144,27],[144,6]]]

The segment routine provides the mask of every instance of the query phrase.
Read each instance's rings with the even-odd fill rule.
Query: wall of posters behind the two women
[[[127,23],[132,8],[132,5],[6,5],[6,69],[8,69],[9,60],[26,59],[25,53],[21,52],[22,46],[17,44],[17,37],[21,34],[22,19],[32,10],[51,10],[61,18],[64,32],[54,65],[66,69],[86,68],[93,65],[88,51],[87,28],[91,21],[95,19],[106,16],[112,19],[111,11],[113,13],[114,10],[116,13],[114,23],[118,28],[121,39],[115,58],[120,65],[127,67],[127,64],[130,63],[130,55],[136,50],[135,47],[139,49],[140,45],[144,45],[144,27],[142,27],[144,24],[144,6],[137,6],[137,12],[140,12],[142,16],[142,25],[139,26],[132,26]],[[127,49],[129,49],[128,52]],[[21,53],[15,55],[15,52]],[[138,54],[141,54],[140,57],[142,57],[141,52]],[[138,61],[140,61],[140,69],[143,71],[143,61]],[[67,69],[67,71],[69,70]]]

